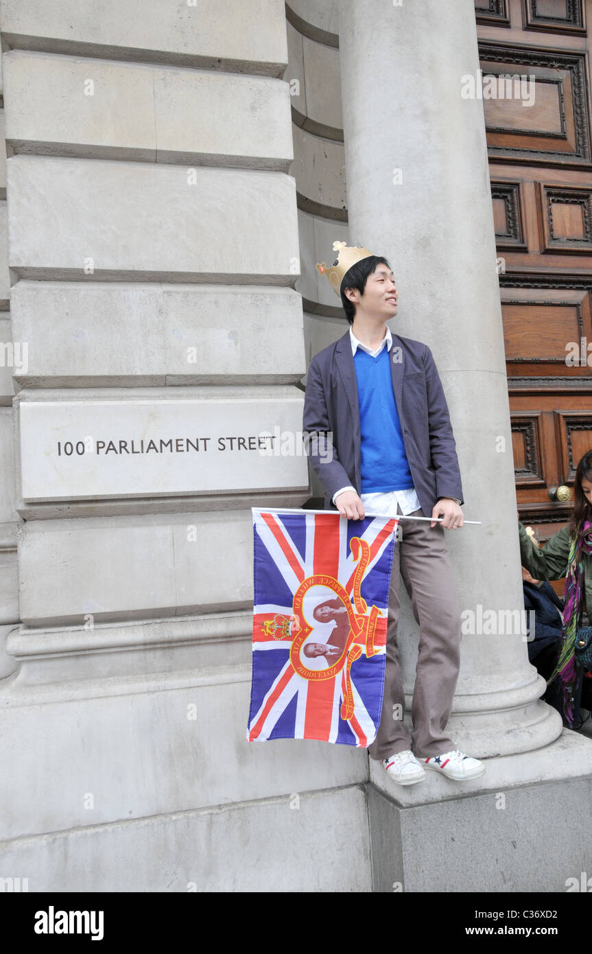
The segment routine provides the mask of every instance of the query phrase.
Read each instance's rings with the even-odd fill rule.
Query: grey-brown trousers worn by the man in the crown
[[[412,516],[424,516],[423,510]],[[398,527],[402,540],[398,539],[393,555],[382,716],[377,737],[368,749],[375,759],[405,749],[428,758],[456,748],[444,730],[459,677],[460,611],[444,530],[440,524],[430,528],[421,520],[401,520]],[[419,624],[413,733],[403,723],[405,694],[397,648],[399,574]]]

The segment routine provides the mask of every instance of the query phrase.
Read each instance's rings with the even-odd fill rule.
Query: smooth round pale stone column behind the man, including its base
[[[544,683],[520,627],[500,634],[510,613],[519,622],[523,602],[482,102],[460,96],[461,76],[477,77],[480,65],[474,5],[342,0],[339,51],[350,236],[392,263],[400,296],[392,329],[433,351],[457,440],[465,517],[482,521],[447,534],[460,607],[467,624],[468,611],[475,613],[477,629],[462,639],[450,734],[459,748],[489,759],[485,777],[462,791],[577,775],[582,764],[589,772],[587,740],[561,736],[560,716],[540,701]],[[494,611],[498,634],[479,632],[479,606]],[[407,607],[399,645],[410,692],[417,631]],[[406,790],[384,778],[372,765],[371,779],[407,804],[459,792],[439,777]]]

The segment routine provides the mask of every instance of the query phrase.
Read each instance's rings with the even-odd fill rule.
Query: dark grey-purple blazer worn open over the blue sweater
[[[462,501],[448,406],[427,344],[393,334],[390,365],[411,475],[421,509],[431,516],[439,497]],[[325,508],[334,508],[331,501],[340,487],[351,484],[359,494],[359,408],[349,330],[311,362],[303,430],[309,435],[309,457],[325,491]],[[327,435],[329,447],[322,440],[316,445],[316,435]]]

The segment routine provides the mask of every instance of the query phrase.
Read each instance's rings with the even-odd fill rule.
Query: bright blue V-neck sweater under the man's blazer
[[[357,348],[354,355],[361,430],[361,491],[413,487],[393,393],[391,357],[384,347],[377,358]]]

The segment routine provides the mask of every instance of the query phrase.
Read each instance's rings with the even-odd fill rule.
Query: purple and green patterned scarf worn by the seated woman
[[[563,716],[569,728],[574,724],[574,703],[578,678],[581,675],[576,667],[576,631],[579,626],[583,606],[583,570],[582,554],[592,554],[592,520],[584,520],[579,532],[570,537],[565,591],[563,593],[563,629],[561,632],[561,651],[553,674],[547,679],[547,686],[557,676],[560,678],[563,695]]]

